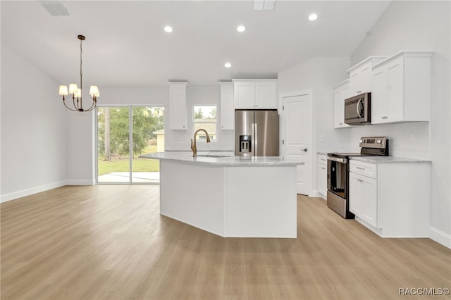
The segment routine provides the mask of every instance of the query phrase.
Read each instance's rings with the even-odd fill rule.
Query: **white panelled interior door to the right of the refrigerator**
[[[311,93],[283,96],[284,156],[304,162],[297,166],[297,194],[311,194]]]

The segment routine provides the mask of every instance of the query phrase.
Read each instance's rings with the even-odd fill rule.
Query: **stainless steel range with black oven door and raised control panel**
[[[349,160],[352,156],[388,156],[387,137],[361,137],[360,153],[327,154],[327,206],[343,218],[353,219],[349,204]]]

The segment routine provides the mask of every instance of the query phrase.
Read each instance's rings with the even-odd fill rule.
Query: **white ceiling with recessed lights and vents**
[[[252,1],[61,1],[70,15],[54,17],[39,1],[1,1],[1,43],[61,84],[79,81],[77,35],[85,35],[85,85],[216,85],[275,78],[314,56],[350,56],[389,3],[276,0],[273,11],[253,11]]]

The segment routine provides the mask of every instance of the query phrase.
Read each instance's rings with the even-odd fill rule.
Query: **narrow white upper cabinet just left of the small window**
[[[187,129],[186,92],[188,82],[168,82],[169,84],[169,128]]]

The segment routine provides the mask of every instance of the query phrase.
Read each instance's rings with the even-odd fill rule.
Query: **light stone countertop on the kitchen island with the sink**
[[[215,157],[216,156],[216,157]],[[217,157],[223,156],[223,157]],[[288,166],[303,165],[300,161],[291,161],[283,159],[282,156],[257,156],[251,158],[241,158],[233,156],[230,152],[202,152],[197,153],[197,157],[192,157],[192,152],[158,152],[154,154],[144,154],[140,158],[152,158],[168,161],[178,161],[181,163],[194,163],[202,165],[221,165],[221,166]]]

